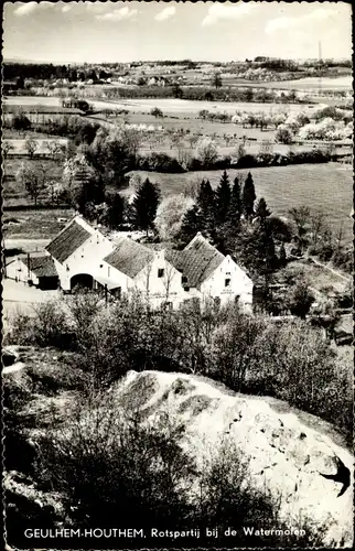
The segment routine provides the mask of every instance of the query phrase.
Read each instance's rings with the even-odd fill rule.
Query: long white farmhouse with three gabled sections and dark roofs
[[[252,307],[252,281],[201,234],[182,251],[154,250],[128,237],[116,241],[76,216],[46,247],[64,291],[106,288],[120,298],[141,294],[153,307],[212,298]]]

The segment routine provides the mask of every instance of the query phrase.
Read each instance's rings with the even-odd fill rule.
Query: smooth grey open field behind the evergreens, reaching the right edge
[[[229,170],[229,180],[245,179],[251,172],[258,197],[265,197],[270,209],[278,215],[287,215],[288,209],[308,205],[325,213],[330,225],[336,229],[343,223],[344,238],[352,241],[353,219],[353,173],[338,163],[302,164],[251,170]],[[157,182],[163,195],[183,193],[194,181],[208,179],[212,186],[218,185],[222,171],[200,171],[185,174],[159,174],[136,171],[141,179]],[[133,174],[131,173],[131,174]],[[133,194],[133,188],[122,192]]]

